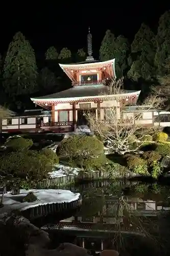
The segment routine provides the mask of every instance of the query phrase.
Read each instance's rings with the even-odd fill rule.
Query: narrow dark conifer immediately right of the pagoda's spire
[[[114,58],[114,48],[115,48],[114,40],[115,40],[114,34],[112,34],[110,30],[107,30],[100,47],[100,59],[102,61]]]

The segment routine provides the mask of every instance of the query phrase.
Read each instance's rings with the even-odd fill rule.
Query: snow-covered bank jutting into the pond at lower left
[[[27,196],[29,192],[33,192],[37,197],[35,202],[23,202],[22,199]],[[19,195],[12,195],[10,192],[4,195],[4,207],[0,208],[0,217],[11,209],[26,210],[28,208],[39,205],[53,204],[53,203],[69,203],[79,199],[79,193],[72,193],[70,190],[62,189],[21,189]],[[0,195],[1,201],[2,195]]]

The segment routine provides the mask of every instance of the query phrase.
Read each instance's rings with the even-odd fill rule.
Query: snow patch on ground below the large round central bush
[[[64,177],[67,175],[78,175],[79,171],[80,171],[79,168],[73,168],[70,166],[56,164],[53,172],[49,174],[51,178],[57,178],[57,177]]]

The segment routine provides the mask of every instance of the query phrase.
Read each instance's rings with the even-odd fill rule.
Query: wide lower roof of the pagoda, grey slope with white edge
[[[127,94],[136,94],[139,95],[140,91],[123,91],[122,96],[128,96]],[[109,87],[104,86],[103,84],[98,84],[98,85],[89,85],[87,84],[85,86],[77,86],[70,88],[68,90],[59,92],[59,93],[54,93],[42,97],[37,97],[37,98],[31,98],[32,101],[70,101],[72,99],[79,99],[79,98],[91,98],[91,97],[104,97],[108,95],[109,96]],[[116,97],[117,95],[115,95]]]

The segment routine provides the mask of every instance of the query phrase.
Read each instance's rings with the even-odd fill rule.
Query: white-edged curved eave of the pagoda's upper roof
[[[106,60],[106,61],[100,61],[100,62],[88,62],[88,63],[78,63],[78,64],[60,64],[59,63],[59,66],[60,68],[62,68],[62,70],[65,70],[65,69],[79,69],[79,68],[90,68],[92,66],[100,66],[100,67],[103,67],[103,66],[108,66],[108,65],[111,65],[113,64],[114,65],[114,62],[115,62],[115,58],[114,59],[110,59],[110,60]]]

